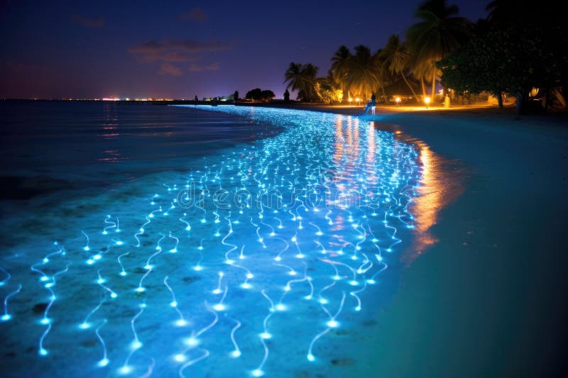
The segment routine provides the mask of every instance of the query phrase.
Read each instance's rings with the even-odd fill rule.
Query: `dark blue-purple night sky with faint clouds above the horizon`
[[[339,45],[373,52],[422,0],[1,1],[0,97],[282,97],[290,62],[324,76]],[[488,0],[457,0],[486,16]]]

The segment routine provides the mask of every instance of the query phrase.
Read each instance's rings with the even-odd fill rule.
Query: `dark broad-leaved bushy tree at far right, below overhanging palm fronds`
[[[568,45],[562,28],[494,28],[437,63],[442,84],[458,92],[519,93],[560,87],[568,71]]]

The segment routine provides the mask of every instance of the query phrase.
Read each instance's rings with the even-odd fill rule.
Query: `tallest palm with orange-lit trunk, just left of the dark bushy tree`
[[[447,6],[446,0],[429,0],[415,13],[421,21],[407,30],[409,48],[416,62],[431,67],[432,99],[438,74],[435,63],[459,48],[469,36],[470,23],[466,18],[454,16],[458,11],[456,5]]]

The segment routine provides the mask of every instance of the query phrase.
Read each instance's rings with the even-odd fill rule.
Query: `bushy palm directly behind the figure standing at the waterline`
[[[355,55],[349,59],[346,83],[349,89],[365,99],[378,86],[376,60],[368,47],[359,45],[355,48]]]

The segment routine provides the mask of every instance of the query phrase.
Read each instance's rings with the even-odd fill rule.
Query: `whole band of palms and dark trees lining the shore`
[[[526,104],[537,92],[568,106],[562,96],[568,91],[568,34],[557,4],[494,0],[486,9],[487,18],[471,23],[446,0],[427,0],[415,11],[406,40],[391,35],[374,53],[342,45],[327,77],[318,78],[314,65],[290,63],[287,89],[302,101],[365,101],[371,93],[388,101],[387,94],[408,88],[416,101],[430,96],[435,102],[439,82],[444,94],[491,92],[500,106],[503,93],[519,94]]]

